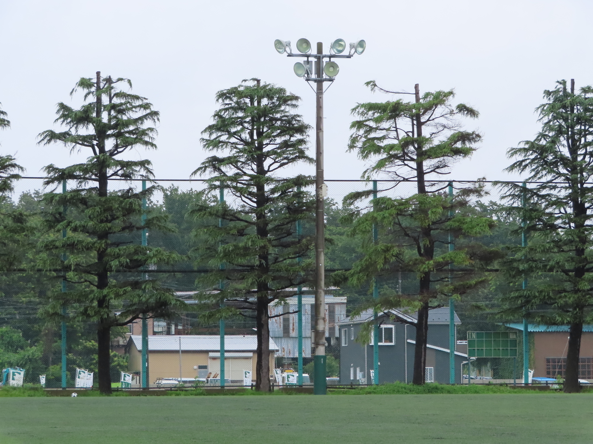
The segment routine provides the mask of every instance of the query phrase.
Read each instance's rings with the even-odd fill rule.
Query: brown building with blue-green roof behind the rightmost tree
[[[523,324],[507,324],[507,326],[523,331]],[[527,330],[531,348],[533,348],[530,350],[530,367],[533,365],[533,376],[564,378],[569,326],[528,324]],[[593,380],[593,325],[583,326],[580,355],[579,378]]]

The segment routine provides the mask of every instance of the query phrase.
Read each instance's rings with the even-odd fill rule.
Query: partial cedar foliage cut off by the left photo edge
[[[0,110],[0,130],[10,127],[6,111]],[[9,194],[14,182],[21,178],[24,168],[11,155],[0,155],[0,269],[14,268],[27,252],[24,244],[28,232],[27,215],[13,208]]]

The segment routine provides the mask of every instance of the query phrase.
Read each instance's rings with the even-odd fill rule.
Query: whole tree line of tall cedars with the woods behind
[[[479,117],[476,109],[455,103],[453,90],[421,93],[416,85],[407,101],[375,82],[366,85],[390,99],[353,107],[347,150],[368,165],[362,178],[369,184],[391,182],[350,193],[341,205],[329,200],[326,217],[328,264],[336,270],[330,282],[342,289],[378,287],[378,298],[359,296],[352,314],[417,311],[413,383],[423,384],[429,310],[498,285],[492,294],[500,316],[570,326],[564,390],[578,391],[582,327],[591,322],[593,305],[591,87],[575,91],[573,81],[559,81],[544,91],[537,108],[541,130],[508,150],[508,170],[537,183],[500,182],[501,203],[487,201],[483,180],[447,184],[454,163],[471,157],[482,140],[463,127]],[[314,162],[300,98],[259,79],[219,91],[213,123],[199,141],[211,156],[193,172],[205,186],[165,190],[157,204],[152,199],[163,190],[151,181],[150,160],[126,155],[157,148],[160,113],[131,88],[129,79],[97,72],[72,89],[72,96],[82,95],[79,108],[58,104],[61,130],[42,131],[39,144],[62,144],[88,157],[65,168],[46,166],[46,192],[13,202],[24,169],[14,156],[0,156],[3,311],[14,310],[25,294],[36,301],[34,316],[47,321],[40,338],[51,338],[59,321],[78,323],[80,344],[96,347],[98,385],[107,393],[119,359],[110,350],[114,334],[142,316],[188,311],[167,276],[146,270],[208,271],[186,282],[199,301],[196,316],[253,318],[256,388],[269,390],[269,306],[314,282],[314,197],[307,191],[314,177],[288,173]],[[7,117],[0,111],[4,129]],[[138,180],[149,186],[132,186]],[[396,196],[406,183],[414,192]],[[139,242],[143,230],[151,233],[148,245]],[[502,232],[504,239],[492,242],[493,233]],[[517,242],[520,236],[525,243]],[[168,247],[171,242],[176,247]],[[19,281],[19,273],[32,271],[33,281]],[[402,274],[406,284],[394,284]],[[0,329],[4,355],[25,348],[15,332]],[[47,341],[38,354],[51,355]]]

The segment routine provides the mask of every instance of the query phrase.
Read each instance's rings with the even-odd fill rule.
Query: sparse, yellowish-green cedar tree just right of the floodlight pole
[[[371,91],[379,89],[375,82],[368,82]],[[410,94],[410,93],[408,93]],[[358,104],[352,113],[360,118],[350,128],[349,149],[358,152],[359,159],[374,162],[365,170],[363,178],[371,180],[382,173],[396,182],[393,189],[403,182],[416,184],[416,192],[409,197],[378,197],[370,208],[359,208],[350,214],[353,221],[352,235],[367,236],[364,257],[352,270],[336,276],[362,285],[372,279],[388,278],[398,271],[415,272],[418,276],[417,293],[397,294],[381,291],[378,301],[372,304],[377,310],[396,307],[417,309],[416,346],[414,359],[414,384],[424,384],[428,313],[440,306],[436,298],[442,295],[459,295],[484,282],[486,278],[476,272],[467,272],[468,266],[479,268],[493,251],[479,244],[457,243],[449,252],[451,242],[461,236],[487,234],[494,226],[492,219],[480,217],[471,211],[470,198],[483,193],[483,185],[455,191],[449,198],[446,182],[431,182],[430,176],[448,174],[449,167],[457,160],[466,159],[476,150],[480,134],[461,131],[460,118],[476,118],[478,112],[464,104],[451,105],[453,91],[427,92],[420,96],[415,86],[415,102],[396,101]],[[382,191],[387,191],[387,189]],[[351,205],[368,198],[372,191],[356,192],[345,198]],[[346,219],[346,218],[345,218]],[[372,242],[370,233],[378,226],[379,238]],[[463,266],[463,272],[454,272],[448,279],[451,265]],[[435,284],[441,283],[436,286]],[[432,301],[432,302],[431,302]]]

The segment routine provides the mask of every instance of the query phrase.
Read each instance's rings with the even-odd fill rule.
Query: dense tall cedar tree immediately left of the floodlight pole
[[[203,131],[202,144],[224,156],[208,157],[194,172],[209,176],[204,194],[215,202],[195,205],[190,213],[200,224],[195,235],[208,239],[195,251],[197,264],[216,269],[198,279],[203,291],[197,297],[217,307],[208,313],[211,318],[255,317],[260,391],[270,388],[269,305],[294,294],[291,289],[304,282],[310,265],[297,261],[312,238],[297,237],[296,225],[311,220],[314,202],[299,187],[314,181],[282,177],[286,167],[313,163],[307,155],[310,126],[293,113],[299,100],[257,79],[219,91],[221,107]],[[219,188],[229,202],[216,203]],[[221,304],[226,307],[218,308]]]

